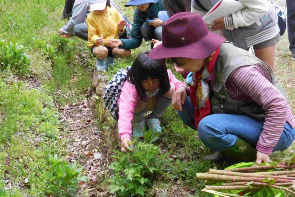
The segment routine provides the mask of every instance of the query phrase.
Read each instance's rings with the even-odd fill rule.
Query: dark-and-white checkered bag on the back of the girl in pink
[[[110,111],[113,118],[118,121],[118,99],[121,94],[124,81],[127,79],[127,71],[130,66],[127,66],[126,70],[119,69],[118,72],[113,76],[111,81],[104,88],[104,104],[106,108]]]

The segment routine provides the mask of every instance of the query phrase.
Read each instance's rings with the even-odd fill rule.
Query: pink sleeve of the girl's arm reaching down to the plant
[[[131,122],[133,119],[134,109],[138,101],[138,95],[135,87],[129,82],[125,81],[119,98],[119,136],[121,141],[124,138],[131,139]]]

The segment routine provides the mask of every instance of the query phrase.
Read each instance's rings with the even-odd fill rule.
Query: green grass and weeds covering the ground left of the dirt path
[[[8,45],[1,52],[14,51],[12,59],[18,59],[16,64],[2,59],[9,66],[0,75],[0,196],[70,196],[64,189],[75,195],[78,181],[87,181],[64,157],[69,141],[56,105],[84,98],[93,61],[80,59],[89,54],[80,47],[85,42],[57,36],[65,22],[59,19],[63,5],[62,0],[0,2],[0,37]],[[16,43],[24,46],[30,64],[19,61],[24,54],[15,50]],[[38,89],[27,89],[31,76],[40,80]]]

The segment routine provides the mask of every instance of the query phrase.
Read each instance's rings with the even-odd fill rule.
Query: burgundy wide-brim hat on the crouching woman
[[[149,57],[204,59],[224,41],[222,36],[208,31],[200,14],[181,12],[164,22],[162,44],[151,50]]]

